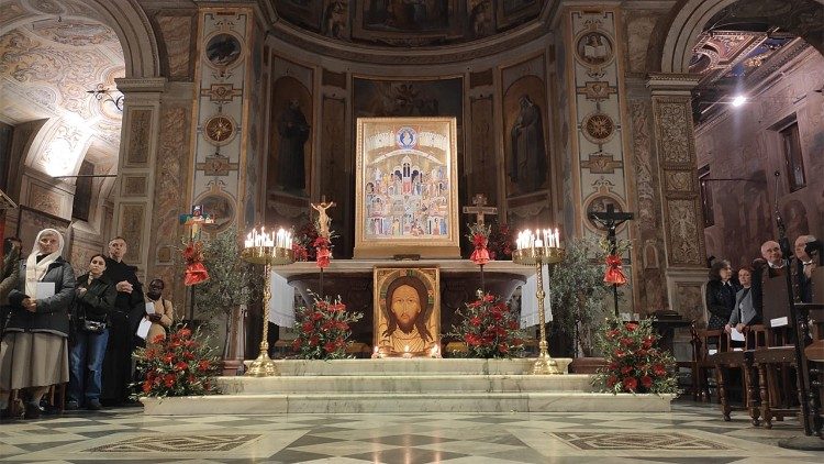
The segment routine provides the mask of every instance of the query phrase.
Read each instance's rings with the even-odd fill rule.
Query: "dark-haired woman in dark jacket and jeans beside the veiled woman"
[[[71,346],[69,391],[66,409],[85,406],[98,410],[102,389],[103,356],[109,343],[109,313],[114,309],[118,289],[103,277],[105,257],[89,259],[89,272],[78,277],[71,317],[75,321]]]

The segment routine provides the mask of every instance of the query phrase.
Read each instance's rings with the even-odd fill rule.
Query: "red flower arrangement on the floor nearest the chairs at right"
[[[613,322],[600,334],[599,349],[608,365],[599,369],[592,384],[613,394],[678,394],[676,360],[657,343],[653,319]]]

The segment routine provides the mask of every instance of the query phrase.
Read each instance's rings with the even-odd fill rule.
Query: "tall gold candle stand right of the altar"
[[[558,368],[558,363],[549,356],[549,344],[546,341],[546,317],[544,316],[544,264],[552,266],[564,259],[564,250],[552,246],[535,246],[530,248],[515,250],[512,253],[512,262],[522,265],[535,265],[537,273],[537,290],[535,298],[538,300],[538,323],[541,324],[541,342],[538,343],[538,358],[532,366],[532,373],[535,375],[563,374]],[[550,267],[552,269],[552,267]]]

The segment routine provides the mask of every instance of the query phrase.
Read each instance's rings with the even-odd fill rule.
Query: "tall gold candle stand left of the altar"
[[[264,284],[264,338],[260,341],[260,354],[252,362],[246,375],[250,377],[270,377],[278,375],[278,367],[269,357],[269,300],[271,299],[271,266],[294,263],[292,248],[282,246],[252,246],[241,253],[244,261],[252,264],[263,264]]]

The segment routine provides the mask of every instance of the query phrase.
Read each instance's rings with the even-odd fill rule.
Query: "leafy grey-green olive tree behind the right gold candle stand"
[[[567,242],[564,261],[549,277],[555,323],[574,334],[576,347],[580,345],[584,355],[591,354],[591,340],[606,317],[604,297],[610,287],[603,283],[605,256],[598,239],[574,239]]]

